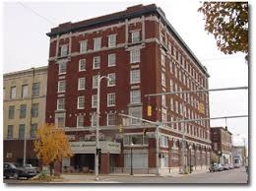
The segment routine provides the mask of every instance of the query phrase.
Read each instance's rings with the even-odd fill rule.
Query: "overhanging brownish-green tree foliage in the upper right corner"
[[[248,61],[248,2],[204,2],[198,11],[219,49],[224,54],[243,52]]]

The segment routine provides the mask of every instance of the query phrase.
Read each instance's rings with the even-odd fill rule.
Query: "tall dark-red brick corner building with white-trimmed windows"
[[[130,170],[131,147],[135,172],[167,172],[190,160],[196,167],[210,163],[208,120],[185,123],[182,160],[180,123],[160,125],[158,147],[156,125],[136,119],[122,124],[118,115],[154,122],[209,117],[208,94],[146,97],[208,89],[206,68],[155,4],[61,24],[47,35],[46,122],[65,129],[75,154],[63,159],[62,166],[95,168],[96,88],[101,76],[110,78],[100,83],[101,173]],[[149,104],[151,116],[147,114]]]

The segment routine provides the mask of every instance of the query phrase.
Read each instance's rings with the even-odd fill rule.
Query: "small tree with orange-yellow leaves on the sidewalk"
[[[41,159],[43,165],[50,165],[50,175],[55,161],[72,157],[65,132],[54,125],[45,124],[39,127],[33,145],[36,157]]]

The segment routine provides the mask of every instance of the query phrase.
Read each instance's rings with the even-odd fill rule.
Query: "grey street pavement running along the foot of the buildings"
[[[186,174],[181,176],[155,176],[155,175],[100,175],[99,181],[95,181],[94,175],[62,175],[63,180],[50,183],[197,183],[197,184],[214,184],[214,183],[227,183],[227,184],[246,184],[247,174],[244,167],[230,169],[221,172],[204,172],[198,174]],[[4,180],[4,183],[37,183],[31,180]]]

